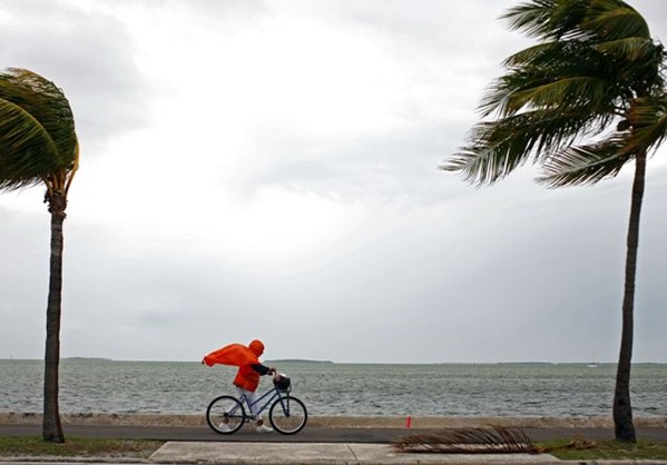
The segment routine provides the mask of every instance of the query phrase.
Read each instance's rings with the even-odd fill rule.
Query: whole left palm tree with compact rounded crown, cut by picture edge
[[[51,214],[42,437],[57,443],[65,441],[58,407],[62,222],[78,160],[75,120],[62,91],[32,71],[0,72],[0,190],[43,182]]]

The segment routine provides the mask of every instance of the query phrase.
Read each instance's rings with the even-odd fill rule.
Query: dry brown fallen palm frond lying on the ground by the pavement
[[[402,453],[533,454],[538,449],[519,428],[452,428],[415,434],[393,442]]]

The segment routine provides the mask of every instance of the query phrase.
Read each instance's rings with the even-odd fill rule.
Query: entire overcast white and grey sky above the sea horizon
[[[61,87],[81,168],[61,355],[615,362],[632,167],[550,190],[439,165],[514,0],[3,0],[0,66]],[[667,2],[630,1],[667,42]],[[667,362],[667,147],[649,160],[636,362]],[[42,358],[43,189],[0,192],[0,358]]]

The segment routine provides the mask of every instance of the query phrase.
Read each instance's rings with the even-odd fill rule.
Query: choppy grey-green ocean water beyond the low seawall
[[[271,363],[322,416],[609,416],[616,365]],[[203,414],[235,368],[63,359],[61,413]],[[40,413],[41,360],[0,360],[0,412]],[[269,386],[265,377],[259,390]],[[632,367],[637,417],[667,415],[667,364]]]

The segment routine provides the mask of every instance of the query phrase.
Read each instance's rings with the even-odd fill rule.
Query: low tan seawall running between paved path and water
[[[178,426],[206,427],[204,415],[146,415],[146,414],[61,414],[63,425],[106,426]],[[667,416],[634,418],[637,427],[667,428]],[[41,414],[0,413],[0,425],[39,425]],[[331,428],[402,428],[408,417],[396,416],[312,416],[308,425]],[[612,428],[610,416],[596,417],[467,417],[438,416],[410,417],[412,428],[460,428],[460,427],[523,427],[523,428]]]

